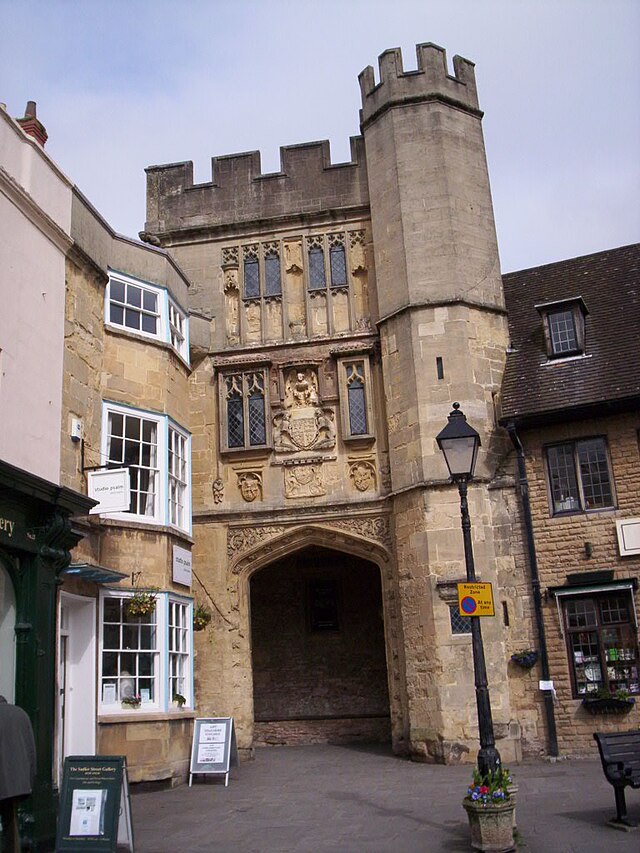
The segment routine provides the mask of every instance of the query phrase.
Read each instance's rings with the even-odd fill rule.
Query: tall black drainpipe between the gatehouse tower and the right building
[[[531,502],[529,501],[529,481],[527,480],[527,469],[524,459],[524,448],[518,438],[516,425],[513,421],[507,424],[507,432],[511,443],[516,449],[518,459],[518,479],[520,486],[520,499],[522,501],[522,512],[524,515],[524,527],[526,533],[527,554],[529,557],[529,569],[531,571],[531,589],[533,592],[533,611],[538,629],[538,640],[540,643],[540,667],[542,678],[549,681],[549,655],[547,654],[547,639],[544,631],[544,618],[542,615],[542,595],[540,594],[540,577],[538,575],[538,560],[536,557],[536,546],[533,538],[533,520],[531,518]],[[544,709],[547,718],[547,734],[549,737],[549,755],[558,756],[558,736],[556,734],[556,718],[553,709],[553,691],[544,690]]]

